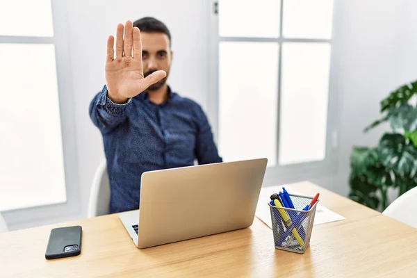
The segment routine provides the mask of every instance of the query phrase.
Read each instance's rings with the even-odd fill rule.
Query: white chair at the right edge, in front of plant
[[[417,228],[416,204],[417,187],[395,199],[382,213]]]

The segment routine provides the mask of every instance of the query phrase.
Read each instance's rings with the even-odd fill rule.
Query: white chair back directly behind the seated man
[[[103,161],[95,172],[88,200],[88,218],[106,215],[110,206],[110,181],[108,181],[107,163]]]

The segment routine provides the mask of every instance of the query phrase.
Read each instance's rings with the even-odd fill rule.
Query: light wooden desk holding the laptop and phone
[[[291,185],[346,220],[315,226],[305,254],[249,229],[138,250],[117,215],[0,235],[0,277],[416,277],[417,229],[312,183]],[[49,231],[83,226],[80,256],[47,261]]]

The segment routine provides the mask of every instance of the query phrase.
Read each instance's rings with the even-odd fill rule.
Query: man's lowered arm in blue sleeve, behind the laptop
[[[197,140],[195,152],[199,164],[222,162],[213,140],[210,124],[200,106],[197,108]]]

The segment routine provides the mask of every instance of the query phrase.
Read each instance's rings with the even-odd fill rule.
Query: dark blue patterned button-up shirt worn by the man
[[[222,162],[202,108],[169,90],[160,105],[147,92],[114,104],[107,88],[90,104],[90,117],[103,136],[111,183],[111,213],[139,208],[143,172]]]

